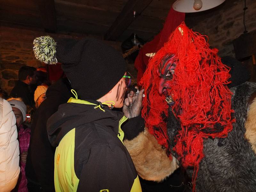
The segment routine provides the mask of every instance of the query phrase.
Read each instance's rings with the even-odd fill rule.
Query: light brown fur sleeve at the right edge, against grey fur
[[[256,154],[256,98],[252,101],[245,122],[245,138],[251,143]]]

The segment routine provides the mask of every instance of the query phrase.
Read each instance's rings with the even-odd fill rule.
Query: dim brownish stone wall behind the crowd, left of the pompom
[[[81,38],[86,36],[79,34],[49,34],[37,30],[0,26],[0,87],[8,94],[18,80],[20,67],[24,65],[35,68],[44,66],[44,63],[35,59],[33,53],[34,38],[44,35],[50,35],[53,38]],[[93,37],[99,38],[97,36]],[[105,43],[121,52],[120,42],[105,41]]]

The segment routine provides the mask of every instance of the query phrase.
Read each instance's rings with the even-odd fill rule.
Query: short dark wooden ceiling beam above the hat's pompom
[[[56,11],[54,0],[36,0],[38,5],[44,31],[48,33],[56,33]]]

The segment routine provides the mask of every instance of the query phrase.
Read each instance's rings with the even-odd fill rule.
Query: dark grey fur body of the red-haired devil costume
[[[231,91],[232,108],[235,110],[236,123],[226,138],[204,139],[204,158],[199,164],[196,177],[197,192],[253,192],[256,189],[256,155],[250,143],[245,139],[248,130],[255,131],[256,108],[251,105],[247,118],[247,103],[256,83],[246,82],[233,87]],[[253,104],[256,103],[254,99]],[[173,121],[173,120],[172,120]],[[172,125],[167,124],[170,139],[174,137]],[[256,134],[251,134],[250,142],[255,141]],[[187,169],[192,177],[194,168]]]

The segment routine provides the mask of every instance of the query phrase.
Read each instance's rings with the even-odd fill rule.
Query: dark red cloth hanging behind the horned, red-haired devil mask
[[[134,62],[134,67],[138,70],[138,85],[142,85],[140,79],[148,66],[149,57],[147,57],[145,54],[157,52],[162,46],[164,46],[164,43],[168,41],[171,33],[174,31],[175,28],[177,28],[177,26],[180,25],[181,22],[184,21],[184,19],[185,13],[176,12],[171,8],[166,17],[162,31],[158,35],[156,35],[152,41],[146,43],[143,48],[140,49],[139,55]]]

